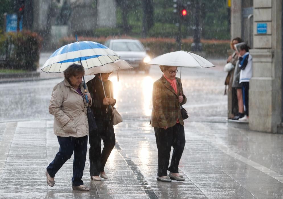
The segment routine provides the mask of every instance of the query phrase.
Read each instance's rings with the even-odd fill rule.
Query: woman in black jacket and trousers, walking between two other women
[[[111,73],[101,73],[101,76],[100,74],[96,74],[92,80],[87,82],[92,98],[90,108],[94,113],[98,128],[95,131],[89,132],[90,176],[91,179],[95,181],[101,181],[100,177],[108,179],[108,176],[104,172],[104,166],[115,146],[111,106],[115,105],[116,99],[113,98],[113,83],[108,80],[110,74]],[[102,83],[104,84],[105,95]],[[104,145],[102,151],[101,139]]]

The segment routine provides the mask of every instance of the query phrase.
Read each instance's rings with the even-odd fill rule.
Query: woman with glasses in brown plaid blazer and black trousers
[[[171,182],[171,179],[184,181],[179,175],[178,166],[185,147],[184,122],[180,105],[185,104],[187,98],[183,95],[183,88],[175,66],[162,66],[163,75],[154,82],[152,91],[152,114],[150,124],[154,127],[156,145],[158,149],[157,181]],[[173,155],[169,165],[171,146]],[[170,171],[167,176],[167,170]]]

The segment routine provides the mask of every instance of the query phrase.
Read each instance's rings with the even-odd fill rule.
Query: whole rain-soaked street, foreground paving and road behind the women
[[[149,120],[152,84],[160,76],[154,67],[149,76],[119,72],[119,82],[111,75],[124,121],[114,127],[117,143],[106,164],[108,180],[90,181],[87,158],[83,181],[90,192],[71,189],[72,158],[56,174],[56,185],[46,185],[45,168],[59,148],[48,103],[62,79],[1,84],[0,197],[282,198],[282,135],[226,123],[226,73],[221,67],[182,69],[189,119],[179,172],[186,180],[157,182],[157,148]]]

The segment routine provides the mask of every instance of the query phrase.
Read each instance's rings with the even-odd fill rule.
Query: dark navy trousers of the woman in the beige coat
[[[86,163],[87,135],[80,138],[60,136],[57,136],[57,138],[60,145],[59,152],[46,168],[47,172],[50,177],[55,177],[55,174],[71,158],[74,152],[73,186],[83,185],[82,176],[84,175],[84,165]]]

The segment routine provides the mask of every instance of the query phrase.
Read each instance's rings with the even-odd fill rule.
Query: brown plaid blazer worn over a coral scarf
[[[176,77],[177,82],[177,94],[172,88],[170,83],[162,77],[154,82],[152,90],[152,113],[150,124],[152,127],[164,128],[166,126],[173,127],[176,124],[177,118],[181,125],[184,125],[184,121],[180,111],[180,103],[178,102],[178,96],[183,94],[182,83],[179,78]],[[183,95],[183,102],[185,104],[187,98]]]

